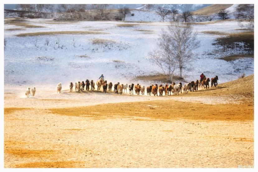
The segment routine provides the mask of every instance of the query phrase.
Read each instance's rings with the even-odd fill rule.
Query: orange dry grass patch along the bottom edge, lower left
[[[19,164],[16,168],[85,168],[84,164],[81,161],[42,161]]]

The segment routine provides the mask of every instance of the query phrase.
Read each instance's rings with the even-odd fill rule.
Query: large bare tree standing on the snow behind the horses
[[[182,78],[183,68],[196,57],[193,50],[199,46],[199,41],[196,40],[197,32],[193,31],[193,27],[190,24],[183,26],[175,22],[168,26],[167,31],[162,30],[158,49],[149,53],[150,60],[158,65],[164,74],[170,75],[170,81],[173,80],[176,68],[179,68],[179,77]]]

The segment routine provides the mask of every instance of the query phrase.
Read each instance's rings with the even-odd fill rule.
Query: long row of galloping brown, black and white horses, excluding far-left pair
[[[191,81],[190,83],[186,83],[184,85],[182,85],[182,83],[180,82],[179,84],[175,84],[174,82],[169,85],[169,84],[165,84],[165,86],[163,86],[162,84],[160,84],[158,86],[158,84],[155,84],[155,85],[150,85],[146,88],[146,91],[147,91],[147,95],[151,95],[153,94],[154,96],[158,96],[158,93],[159,93],[159,96],[163,96],[163,93],[165,92],[165,95],[171,95],[171,92],[172,94],[179,94],[179,93],[182,93],[182,89],[184,91],[184,93],[188,93],[189,91],[196,91],[198,90],[198,88],[203,87],[205,89],[207,89],[207,87],[209,88],[209,82],[211,82],[211,87],[214,85],[215,87],[217,86],[217,80],[218,80],[218,76],[216,75],[214,78],[206,78],[205,76],[203,77],[202,80],[196,80],[195,82],[194,81]],[[108,91],[112,91],[112,87],[113,87],[113,84],[112,82],[108,83],[107,84],[107,80],[103,80],[103,78],[101,78],[100,80],[98,80],[96,82],[96,85],[97,85],[97,90],[99,91],[101,89],[101,86],[103,88],[103,92],[107,92],[107,88],[108,88]],[[84,88],[86,87],[86,90],[89,91],[89,86],[91,86],[91,90],[95,90],[95,82],[93,82],[93,80],[89,81],[88,79],[85,81],[78,81],[77,83],[75,82],[74,84],[71,82],[69,84],[69,87],[70,87],[70,92],[73,91],[73,87],[75,87],[75,91],[84,91]],[[123,90],[124,92],[126,91],[127,92],[127,88],[129,89],[129,93],[130,94],[133,94],[133,90],[134,92],[137,94],[137,95],[144,95],[145,94],[145,86],[141,86],[140,84],[137,84],[137,85],[134,85],[134,84],[131,84],[128,86],[128,84],[120,84],[119,82],[117,84],[114,84],[114,92],[117,93],[117,94],[122,94],[123,93]],[[61,86],[61,83],[59,83],[57,85],[57,92],[61,93],[61,89],[62,89],[62,86]]]

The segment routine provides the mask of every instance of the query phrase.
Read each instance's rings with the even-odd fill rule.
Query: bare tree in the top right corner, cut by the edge
[[[254,4],[239,4],[236,8],[236,18],[241,27],[254,30]],[[243,21],[248,21],[245,24]]]

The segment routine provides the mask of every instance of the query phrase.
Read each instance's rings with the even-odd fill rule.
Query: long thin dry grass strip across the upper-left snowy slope
[[[41,35],[87,35],[87,34],[107,34],[105,32],[94,31],[50,31],[50,32],[32,32],[21,33],[16,36],[41,36]]]

